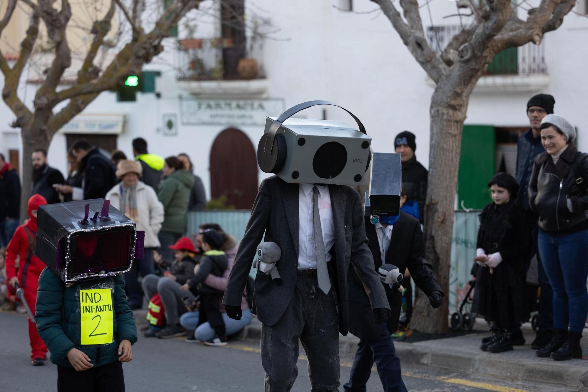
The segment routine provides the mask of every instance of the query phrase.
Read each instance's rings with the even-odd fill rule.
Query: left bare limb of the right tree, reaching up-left
[[[425,69],[435,83],[449,71],[449,68],[439,55],[430,47],[423,32],[423,24],[420,20],[419,7],[416,0],[401,0],[400,5],[403,7],[405,18],[409,24],[403,21],[402,16],[397,11],[390,0],[372,0],[380,5],[384,15],[392,22],[392,26],[400,35],[402,42],[407,46],[410,53],[419,62],[420,66]]]

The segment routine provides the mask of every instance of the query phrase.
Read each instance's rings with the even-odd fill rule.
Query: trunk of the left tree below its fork
[[[45,127],[35,127],[35,122],[31,121],[31,124],[21,129],[22,137],[22,187],[21,187],[21,222],[24,222],[29,218],[28,212],[26,212],[26,205],[28,204],[29,198],[32,192],[32,174],[33,167],[31,157],[33,151],[42,148],[47,151],[49,148],[49,138]]]

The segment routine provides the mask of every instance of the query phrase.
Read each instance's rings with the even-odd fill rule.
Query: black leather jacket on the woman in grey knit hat
[[[539,227],[558,234],[588,228],[587,186],[588,154],[574,145],[563,151],[556,165],[547,152],[537,155],[529,181],[529,205],[539,212]]]

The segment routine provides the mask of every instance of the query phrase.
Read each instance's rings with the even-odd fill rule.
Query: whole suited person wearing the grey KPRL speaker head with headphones
[[[282,284],[258,269],[252,312],[262,322],[265,390],[271,392],[292,388],[299,340],[312,390],[338,390],[339,333],[349,330],[349,268],[369,290],[369,317],[381,324],[390,315],[373,268],[360,195],[346,186],[363,181],[371,139],[353,114],[359,131],[341,121],[290,118],[319,104],[335,105],[304,102],[266,119],[258,163],[275,175],[260,185],[223,298],[227,315],[238,320],[251,261],[265,233],[265,243],[280,249],[275,267]]]

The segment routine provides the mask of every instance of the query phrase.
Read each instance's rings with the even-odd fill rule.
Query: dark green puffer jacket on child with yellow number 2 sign
[[[96,284],[114,285],[112,308],[114,315],[113,343],[106,346],[84,348],[81,339],[81,314],[79,313],[78,290]],[[125,297],[125,281],[122,275],[96,280],[80,281],[66,287],[53,271],[45,267],[39,277],[39,289],[35,319],[37,330],[51,352],[51,362],[58,366],[72,367],[67,358],[69,350],[77,348],[85,353],[94,367],[118,361],[118,346],[126,339],[134,344],[137,341],[137,328],[133,312]],[[74,344],[74,342],[77,342]]]

